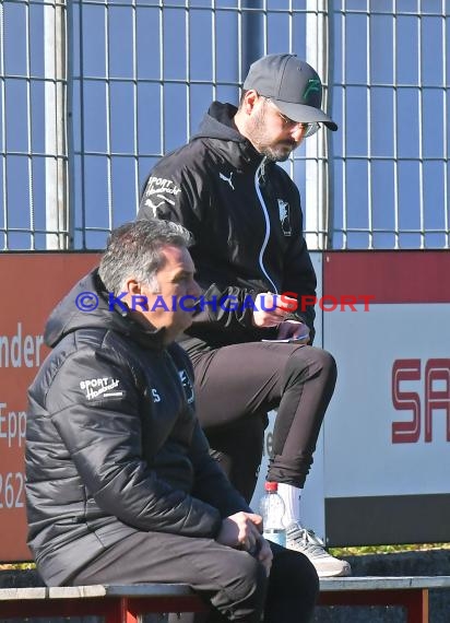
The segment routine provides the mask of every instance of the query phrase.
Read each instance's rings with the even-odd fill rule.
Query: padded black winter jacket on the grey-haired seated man
[[[78,309],[96,292],[99,305]],[[163,332],[108,309],[94,271],[50,316],[28,390],[28,544],[50,586],[135,531],[215,538],[248,505],[209,456],[191,364]]]

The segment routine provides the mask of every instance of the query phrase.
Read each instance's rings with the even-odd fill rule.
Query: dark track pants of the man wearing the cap
[[[289,343],[233,344],[201,355],[197,413],[233,484],[247,501],[262,456],[264,414],[277,409],[268,480],[303,487],[334,391],[330,353]]]

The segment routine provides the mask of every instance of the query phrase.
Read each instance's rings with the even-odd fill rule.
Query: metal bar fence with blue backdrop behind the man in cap
[[[449,247],[450,0],[3,0],[0,249],[97,249],[250,62],[315,66],[338,132],[283,166],[309,247]]]

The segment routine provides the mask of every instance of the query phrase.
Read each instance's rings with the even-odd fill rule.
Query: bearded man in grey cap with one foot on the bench
[[[203,294],[180,342],[213,455],[249,501],[265,414],[277,408],[267,480],[285,503],[286,546],[330,577],[350,575],[350,565],[301,525],[300,496],[336,366],[310,345],[315,310],[305,302],[315,298],[316,275],[298,189],[276,165],[321,126],[338,129],[321,101],[307,62],[289,54],[259,59],[238,108],[213,102],[189,143],[156,164],[138,219],[176,221],[193,234]]]

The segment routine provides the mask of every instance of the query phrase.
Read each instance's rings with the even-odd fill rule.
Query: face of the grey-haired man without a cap
[[[163,255],[166,262],[156,273],[159,292],[140,284],[140,295],[146,297],[147,309],[140,306],[135,309],[156,329],[166,328],[166,341],[171,342],[192,324],[194,299],[201,290],[193,278],[196,269],[186,247],[167,246]]]

